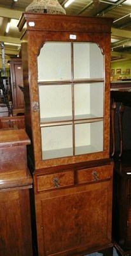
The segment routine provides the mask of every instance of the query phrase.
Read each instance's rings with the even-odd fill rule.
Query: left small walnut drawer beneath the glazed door
[[[74,185],[74,170],[36,177],[37,191]]]

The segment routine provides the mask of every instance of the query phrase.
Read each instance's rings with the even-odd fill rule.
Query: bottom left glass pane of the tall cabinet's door
[[[43,159],[72,156],[72,125],[41,128]]]

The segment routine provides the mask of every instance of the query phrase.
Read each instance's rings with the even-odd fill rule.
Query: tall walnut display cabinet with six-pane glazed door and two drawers
[[[39,256],[112,247],[112,21],[23,13],[18,23]]]

